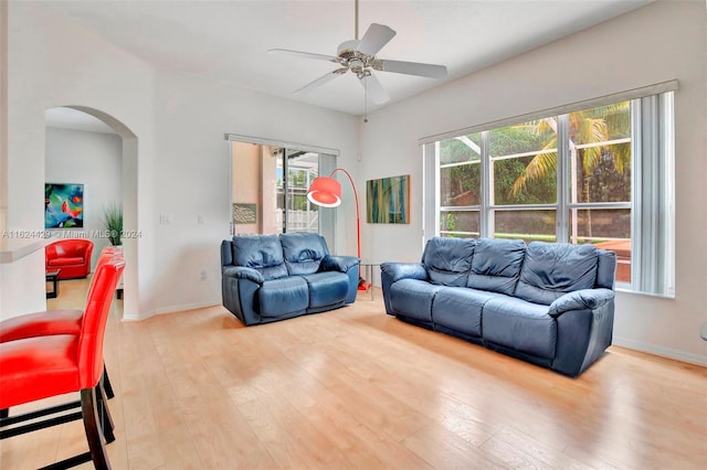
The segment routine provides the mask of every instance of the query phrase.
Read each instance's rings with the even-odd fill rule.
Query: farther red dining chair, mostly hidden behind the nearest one
[[[101,250],[94,273],[112,257],[116,255],[123,255],[120,248],[114,246],[106,246]],[[91,279],[88,285],[88,293],[94,286],[95,275]],[[25,313],[18,317],[9,318],[0,321],[0,343],[8,341],[23,340],[34,337],[46,337],[52,334],[78,334],[81,332],[81,320],[84,312],[82,310],[44,310],[40,312]],[[104,366],[104,376],[102,385],[105,388],[105,394],[108,398],[113,398],[115,393],[110,380],[108,378],[108,372]],[[75,406],[78,406],[78,402],[74,402]],[[48,408],[48,414],[52,413],[51,408]],[[0,419],[9,416],[8,409],[0,409]],[[34,416],[35,417],[35,416]],[[30,419],[30,418],[28,418]],[[33,419],[33,418],[32,418]],[[13,423],[17,423],[14,419]],[[0,421],[0,427],[7,426],[7,421]]]

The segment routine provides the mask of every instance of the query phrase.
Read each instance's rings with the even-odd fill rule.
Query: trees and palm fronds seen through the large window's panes
[[[568,115],[573,203],[631,201],[630,102]],[[557,203],[558,118],[549,117],[485,131],[492,162],[492,205]],[[442,211],[441,229],[478,233],[482,132],[440,142],[440,204],[468,207]],[[465,164],[460,164],[465,163]],[[598,216],[592,217],[592,213]],[[528,239],[555,239],[555,211],[496,211],[496,234],[528,234]],[[574,235],[583,241],[630,238],[625,210],[572,212]]]

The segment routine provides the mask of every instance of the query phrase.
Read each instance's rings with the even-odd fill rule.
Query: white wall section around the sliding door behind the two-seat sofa
[[[155,227],[160,241],[155,252],[156,311],[220,303],[219,246],[229,237],[231,216],[231,148],[224,135],[338,149],[338,163],[350,168],[356,162],[357,119],[165,72],[157,75],[156,90],[156,211],[172,215],[170,225]],[[349,212],[354,214],[354,205],[340,207],[339,233],[355,233]],[[355,249],[355,237],[339,237],[333,252]]]

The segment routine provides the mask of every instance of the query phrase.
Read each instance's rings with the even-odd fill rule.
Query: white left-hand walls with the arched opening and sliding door
[[[156,72],[41,4],[12,2],[9,10],[9,76],[14,85],[8,89],[11,177],[2,181],[9,189],[8,228],[43,228],[42,214],[33,207],[42,206],[48,108],[92,108],[126,126],[136,139],[123,145],[125,223],[140,234],[124,241],[128,319],[221,302],[218,248],[229,236],[230,220],[224,133],[339,149],[339,164],[356,172],[350,164],[357,152],[351,116]],[[134,203],[133,211],[126,201]],[[352,217],[346,209],[340,213],[340,233],[354,233]],[[160,214],[170,214],[170,225],[159,223]],[[203,224],[197,223],[197,214]],[[355,244],[341,236],[335,249],[351,253]],[[2,293],[10,297],[3,302],[12,309],[3,308],[0,316],[44,308],[42,269],[40,261],[30,269],[36,271],[33,276],[22,269],[23,279],[34,279],[23,291],[19,280],[3,280]],[[199,281],[202,270],[207,279]],[[4,274],[3,279],[13,278]]]

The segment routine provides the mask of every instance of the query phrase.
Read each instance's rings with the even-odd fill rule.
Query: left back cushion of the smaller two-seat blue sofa
[[[277,235],[236,235],[233,264],[258,270],[265,280],[287,276],[283,247]]]

